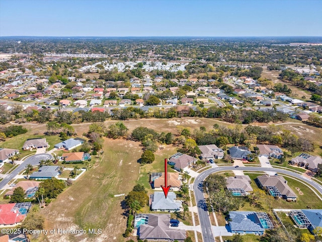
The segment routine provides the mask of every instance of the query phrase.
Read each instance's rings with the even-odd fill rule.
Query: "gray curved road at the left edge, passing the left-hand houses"
[[[0,181],[0,189],[3,189],[9,183],[9,181],[11,181],[13,178],[15,178],[15,176],[18,175],[19,172],[24,170],[28,164],[31,164],[32,166],[36,166],[36,165],[39,165],[39,161],[52,160],[52,158],[53,157],[50,154],[37,154],[37,155],[32,155],[32,156],[27,157],[24,162],[22,162],[10,174],[8,174],[6,178],[4,178],[2,181]]]

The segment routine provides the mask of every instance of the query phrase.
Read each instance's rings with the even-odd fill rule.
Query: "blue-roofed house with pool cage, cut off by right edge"
[[[322,209],[291,210],[289,216],[298,228],[307,228],[313,234],[316,227],[322,227]]]

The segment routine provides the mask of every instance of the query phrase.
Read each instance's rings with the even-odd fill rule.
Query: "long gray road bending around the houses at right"
[[[284,170],[284,169],[279,169],[279,168],[251,167],[251,166],[238,167],[238,168],[234,168],[233,166],[220,166],[220,167],[215,167],[215,168],[205,170],[196,177],[195,182],[194,182],[194,193],[195,193],[196,203],[197,203],[197,207],[198,207],[203,242],[214,242],[215,240],[214,240],[212,229],[211,229],[211,223],[210,223],[210,219],[209,219],[208,209],[207,209],[205,199],[203,196],[202,183],[203,183],[203,180],[208,175],[210,175],[214,172],[226,171],[226,170],[273,171],[275,173],[278,172],[281,174],[294,176],[295,178],[303,180],[307,184],[309,184],[313,188],[315,188],[320,194],[322,194],[322,186],[321,185],[319,185],[318,183],[316,183],[315,181],[313,181],[309,178],[306,178],[298,173],[295,173],[295,172],[292,172],[289,170]]]

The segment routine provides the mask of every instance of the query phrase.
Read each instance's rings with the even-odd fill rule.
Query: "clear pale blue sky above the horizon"
[[[322,0],[0,0],[3,36],[322,36]]]

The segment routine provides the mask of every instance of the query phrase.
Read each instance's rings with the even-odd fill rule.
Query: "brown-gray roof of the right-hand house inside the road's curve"
[[[284,195],[288,198],[296,198],[297,196],[293,192],[293,190],[287,185],[287,181],[283,176],[280,175],[260,175],[257,176],[259,183],[263,187],[276,187],[276,189],[280,192],[281,195]]]

